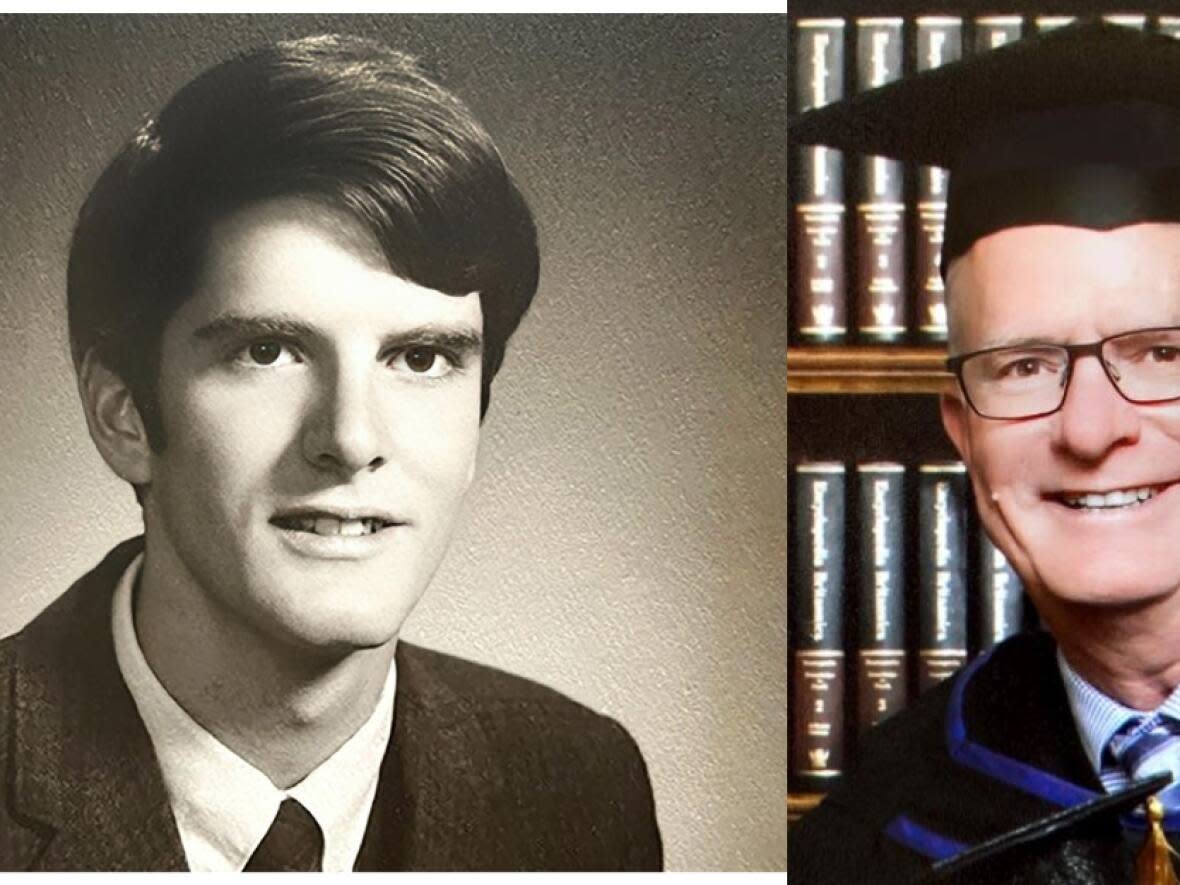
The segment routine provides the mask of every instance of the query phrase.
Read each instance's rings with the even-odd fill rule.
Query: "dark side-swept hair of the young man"
[[[263,46],[185,85],[124,145],[70,250],[74,368],[94,350],[163,447],[159,342],[191,294],[210,225],[307,196],[372,231],[393,273],[480,293],[483,400],[537,289],[532,215],[491,137],[415,60],[339,35]]]

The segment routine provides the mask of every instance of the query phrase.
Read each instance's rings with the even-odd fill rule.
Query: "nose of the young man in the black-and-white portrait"
[[[335,366],[319,385],[303,427],[303,457],[322,471],[352,477],[386,463],[385,417],[374,379],[363,368]]]

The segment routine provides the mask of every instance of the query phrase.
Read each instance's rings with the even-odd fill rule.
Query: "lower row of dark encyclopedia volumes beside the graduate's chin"
[[[822,791],[868,728],[1035,615],[961,463],[792,473],[791,775]]]

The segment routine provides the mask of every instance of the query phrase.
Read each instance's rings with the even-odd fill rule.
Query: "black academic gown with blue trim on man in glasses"
[[[989,841],[946,880],[1133,881],[1138,798],[1103,793],[1055,655],[1047,634],[1017,636],[873,729],[857,767],[792,828],[792,885],[933,880],[937,864]],[[1180,817],[1165,826],[1175,843]]]

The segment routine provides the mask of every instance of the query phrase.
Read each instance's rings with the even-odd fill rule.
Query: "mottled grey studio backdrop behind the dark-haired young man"
[[[451,552],[404,635],[552,684],[648,760],[671,870],[786,865],[786,17],[0,17],[0,632],[138,533],[65,270],[122,140],[275,37],[418,54],[537,214]]]

